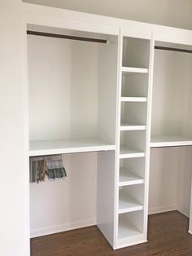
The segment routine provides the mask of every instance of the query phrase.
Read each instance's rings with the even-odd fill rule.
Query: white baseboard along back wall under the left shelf
[[[32,229],[30,232],[30,236],[31,236],[31,238],[37,237],[37,236],[46,236],[46,235],[50,235],[50,234],[64,232],[64,231],[81,228],[81,227],[89,227],[89,226],[93,226],[93,225],[96,225],[95,219],[88,219],[88,220],[80,221],[80,222],[76,222],[76,223],[64,223],[61,225],[56,225],[56,226],[51,226],[51,227]]]

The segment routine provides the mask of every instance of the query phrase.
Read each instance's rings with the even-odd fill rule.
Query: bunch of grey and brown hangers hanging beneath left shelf
[[[61,155],[30,157],[30,183],[44,182],[46,176],[49,180],[67,178]]]

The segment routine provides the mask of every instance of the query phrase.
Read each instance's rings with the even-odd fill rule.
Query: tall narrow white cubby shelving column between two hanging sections
[[[151,33],[120,36],[116,248],[147,240]]]

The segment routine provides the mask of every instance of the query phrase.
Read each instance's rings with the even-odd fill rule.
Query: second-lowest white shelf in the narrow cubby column
[[[119,214],[125,214],[137,210],[143,210],[143,205],[141,205],[137,200],[130,196],[128,193],[120,189],[119,195]]]

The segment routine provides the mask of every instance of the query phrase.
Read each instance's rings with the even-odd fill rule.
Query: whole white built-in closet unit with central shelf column
[[[159,147],[192,145],[190,54],[155,45],[190,49],[192,32],[23,5],[28,157],[63,154],[68,172],[68,180],[30,185],[31,236],[97,224],[113,249],[147,241],[149,189],[153,194],[156,170],[165,171]],[[26,36],[26,30],[107,43]],[[170,161],[188,156],[190,170],[190,152],[165,150]],[[188,177],[178,165],[166,166],[165,176],[175,171],[178,186],[187,177],[190,187],[190,171]],[[180,206],[174,209],[185,214]]]

